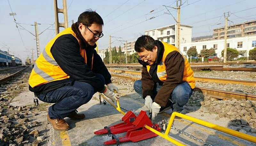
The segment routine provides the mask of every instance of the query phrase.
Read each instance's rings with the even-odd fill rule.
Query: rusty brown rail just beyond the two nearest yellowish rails
[[[107,68],[128,68],[134,70],[142,70],[142,66],[127,65],[106,65]],[[217,71],[249,71],[256,72],[256,68],[223,68],[223,66],[191,66],[193,70],[217,70]]]

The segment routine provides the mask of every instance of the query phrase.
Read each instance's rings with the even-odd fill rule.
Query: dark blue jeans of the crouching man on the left
[[[105,79],[102,75],[96,74],[102,83],[105,85]],[[64,119],[71,112],[74,112],[78,107],[86,104],[92,99],[92,95],[96,93],[92,85],[75,81],[73,85],[63,86],[46,94],[38,95],[38,99],[47,103],[55,103],[48,109],[48,114],[51,119]]]

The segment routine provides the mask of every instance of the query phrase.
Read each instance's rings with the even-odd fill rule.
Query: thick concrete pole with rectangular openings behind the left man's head
[[[67,11],[67,1],[62,0],[63,9],[58,8],[57,0],[53,0],[54,3],[54,15],[55,15],[55,33],[60,33],[60,27],[68,28],[68,11]],[[58,13],[62,13],[64,15],[64,23],[59,22]]]

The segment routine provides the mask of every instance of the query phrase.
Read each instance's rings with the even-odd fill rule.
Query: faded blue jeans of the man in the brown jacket
[[[157,92],[162,86],[156,83],[153,89],[153,93],[156,96]],[[134,90],[142,97],[142,82],[141,80],[137,80],[134,82],[133,85]],[[188,103],[189,97],[192,95],[192,89],[189,86],[188,82],[182,82],[181,84],[177,85],[173,91],[169,100],[173,103],[173,111],[181,113],[184,109],[184,105]],[[151,97],[154,99],[155,97]]]

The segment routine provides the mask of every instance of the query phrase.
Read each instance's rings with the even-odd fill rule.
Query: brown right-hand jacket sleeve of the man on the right
[[[154,102],[160,106],[166,106],[173,89],[182,83],[184,72],[184,59],[177,51],[169,53],[164,60],[164,64],[166,66],[167,77],[154,99]]]

